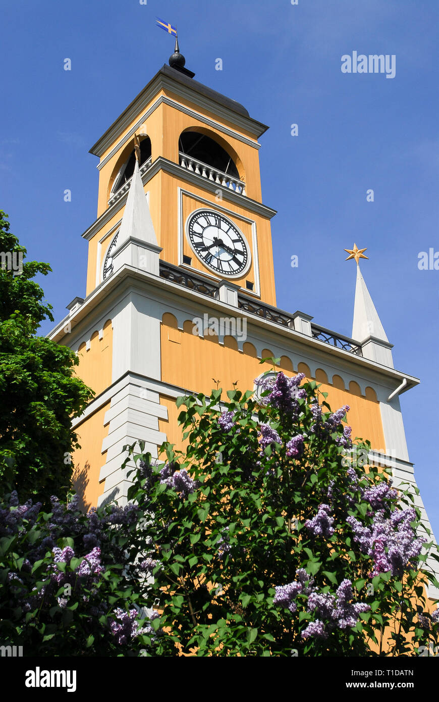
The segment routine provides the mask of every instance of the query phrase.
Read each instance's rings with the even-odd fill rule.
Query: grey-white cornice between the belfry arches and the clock
[[[158,159],[156,159],[148,168],[148,170],[142,174],[143,185],[148,183],[148,181],[151,180],[151,178],[153,178],[161,168],[163,168],[163,171],[171,173],[173,176],[177,176],[177,178],[181,178],[187,183],[198,185],[198,187],[202,186],[204,190],[208,190],[209,192],[212,192],[212,194],[215,194],[217,190],[222,190],[223,199],[233,202],[240,208],[247,208],[250,212],[254,212],[262,217],[271,219],[276,214],[276,210],[273,210],[271,207],[267,207],[261,202],[252,200],[250,197],[245,197],[245,195],[237,194],[234,190],[230,190],[228,187],[221,187],[215,183],[215,181],[203,178],[203,176],[197,176],[196,173],[188,171],[187,168],[182,168],[182,166],[175,164],[173,161],[164,159],[163,156],[159,156]],[[95,234],[99,232],[101,228],[104,227],[104,225],[106,225],[107,222],[109,222],[109,220],[111,220],[114,215],[126,204],[127,198],[128,191],[123,194],[121,198],[116,200],[114,204],[109,206],[102,213],[102,215],[98,217],[97,220],[95,220],[95,222],[93,222],[93,224],[90,225],[85,232],[83,232],[83,234],[81,234],[81,237],[83,239],[87,239],[87,241],[92,239],[92,237],[94,237]]]

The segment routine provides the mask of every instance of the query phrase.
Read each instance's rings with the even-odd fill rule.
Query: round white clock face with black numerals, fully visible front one
[[[201,262],[219,275],[242,275],[250,265],[250,251],[231,220],[213,210],[196,210],[187,219],[187,236]]]

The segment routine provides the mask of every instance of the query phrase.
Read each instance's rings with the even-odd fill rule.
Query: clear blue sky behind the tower
[[[395,345],[400,371],[421,378],[401,397],[411,460],[439,538],[439,251],[437,0],[2,1],[0,206],[55,319],[84,296],[95,220],[96,157],[88,149],[173,51],[155,17],[177,25],[196,79],[270,126],[260,150],[262,196],[278,210],[278,306],[351,334],[355,264]],[[341,57],[395,54],[396,77],[342,74]],[[72,71],[63,69],[65,58]],[[222,58],[223,70],[215,70]],[[299,135],[290,135],[290,125]],[[72,190],[72,202],[63,191]],[[366,190],[374,190],[374,202]],[[293,254],[299,267],[290,266]],[[50,324],[43,326],[47,333]]]

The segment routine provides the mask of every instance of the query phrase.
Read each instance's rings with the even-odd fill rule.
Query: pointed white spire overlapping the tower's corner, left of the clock
[[[151,220],[147,198],[144,194],[137,159],[119,230],[118,245],[120,246],[127,239],[137,239],[137,241],[144,241],[145,244],[155,244],[157,246],[156,232]]]

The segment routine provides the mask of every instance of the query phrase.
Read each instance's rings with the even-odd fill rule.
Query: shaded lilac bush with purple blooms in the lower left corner
[[[142,582],[156,562],[133,558],[137,505],[83,515],[75,497],[51,504],[49,513],[20,505],[16,491],[1,504],[1,640],[27,656],[149,650],[154,625],[140,616]]]

